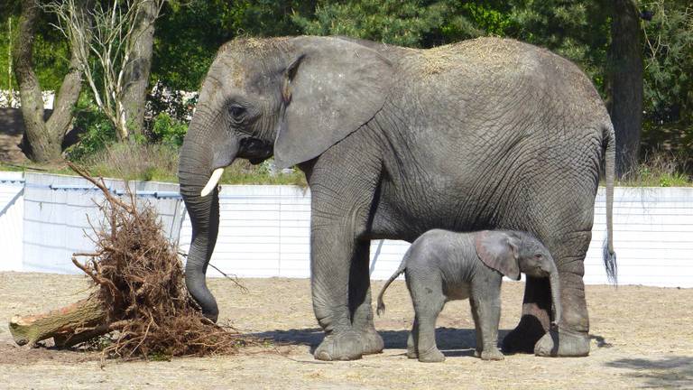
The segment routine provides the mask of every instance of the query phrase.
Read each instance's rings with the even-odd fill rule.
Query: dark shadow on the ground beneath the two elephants
[[[498,339],[503,339],[510,330],[499,330]],[[379,330],[383,337],[385,349],[406,349],[409,330]],[[307,345],[310,353],[318,347],[324,338],[322,330],[318,328],[293,329],[293,330],[269,330],[253,333],[250,336],[259,339],[272,339],[277,343]],[[475,330],[438,328],[436,330],[436,343],[438,348],[447,357],[473,356],[476,346]]]

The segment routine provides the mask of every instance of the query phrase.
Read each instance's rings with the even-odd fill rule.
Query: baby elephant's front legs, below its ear
[[[475,356],[482,360],[503,360],[497,345],[498,322],[501,320],[500,288],[495,292],[473,291],[470,303],[476,327]]]

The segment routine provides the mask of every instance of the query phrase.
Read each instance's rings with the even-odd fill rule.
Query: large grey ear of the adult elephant
[[[294,40],[284,72],[284,112],[274,142],[280,168],[317,157],[383,107],[393,65],[376,51],[336,38]]]

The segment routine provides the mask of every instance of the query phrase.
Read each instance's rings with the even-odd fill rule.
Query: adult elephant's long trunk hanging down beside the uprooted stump
[[[217,140],[215,124],[205,120],[204,113],[193,117],[182,147],[180,148],[179,181],[180,195],[185,201],[192,241],[185,265],[185,283],[188,291],[198,302],[202,312],[210,320],[217,320],[217,301],[209,292],[205,276],[209,259],[217,244],[219,229],[219,198],[216,182],[209,184],[212,172],[223,169],[233,162],[237,153],[235,140]],[[218,181],[218,178],[217,178]],[[204,196],[203,190],[209,191]]]

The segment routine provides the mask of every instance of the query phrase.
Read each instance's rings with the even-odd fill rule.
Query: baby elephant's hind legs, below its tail
[[[407,275],[409,278],[409,274]],[[412,329],[413,352],[420,362],[433,363],[445,360],[436,346],[436,320],[445,304],[440,281],[408,279],[411,301],[416,318]],[[411,350],[408,348],[407,356]],[[411,357],[411,356],[410,356]]]

